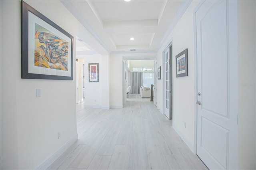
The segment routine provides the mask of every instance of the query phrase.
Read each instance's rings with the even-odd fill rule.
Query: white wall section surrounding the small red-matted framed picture
[[[102,107],[102,62],[101,55],[84,57],[85,67],[85,107]],[[99,82],[89,82],[89,63],[99,63]]]

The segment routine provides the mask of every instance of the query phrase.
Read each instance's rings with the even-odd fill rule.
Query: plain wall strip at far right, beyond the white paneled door
[[[256,2],[238,1],[238,168],[256,169]]]

